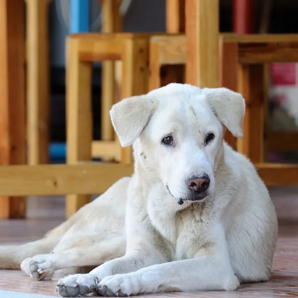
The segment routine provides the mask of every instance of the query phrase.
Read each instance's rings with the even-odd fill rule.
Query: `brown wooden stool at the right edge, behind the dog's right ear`
[[[296,149],[298,133],[275,133],[266,128],[263,93],[264,64],[298,62],[298,34],[223,34],[220,51],[221,84],[238,90],[246,99],[244,137],[237,141],[237,150],[253,162],[264,162],[268,148]]]

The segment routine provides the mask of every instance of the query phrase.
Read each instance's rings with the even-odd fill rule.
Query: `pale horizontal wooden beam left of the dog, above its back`
[[[123,164],[1,166],[0,196],[101,194],[132,173]]]

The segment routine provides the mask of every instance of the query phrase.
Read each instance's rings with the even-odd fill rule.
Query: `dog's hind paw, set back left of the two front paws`
[[[50,280],[55,272],[51,261],[47,259],[47,255],[37,255],[33,258],[25,259],[21,263],[21,269],[31,278],[39,281]]]

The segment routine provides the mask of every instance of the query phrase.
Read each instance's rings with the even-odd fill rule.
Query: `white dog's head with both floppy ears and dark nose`
[[[242,137],[245,102],[226,88],[169,84],[115,104],[113,126],[123,147],[154,171],[178,203],[212,195],[224,128]]]

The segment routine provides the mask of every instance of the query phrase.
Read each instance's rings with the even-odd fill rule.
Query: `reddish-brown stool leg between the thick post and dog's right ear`
[[[238,45],[220,41],[220,86],[238,91]],[[225,142],[236,150],[237,139],[226,130]]]

